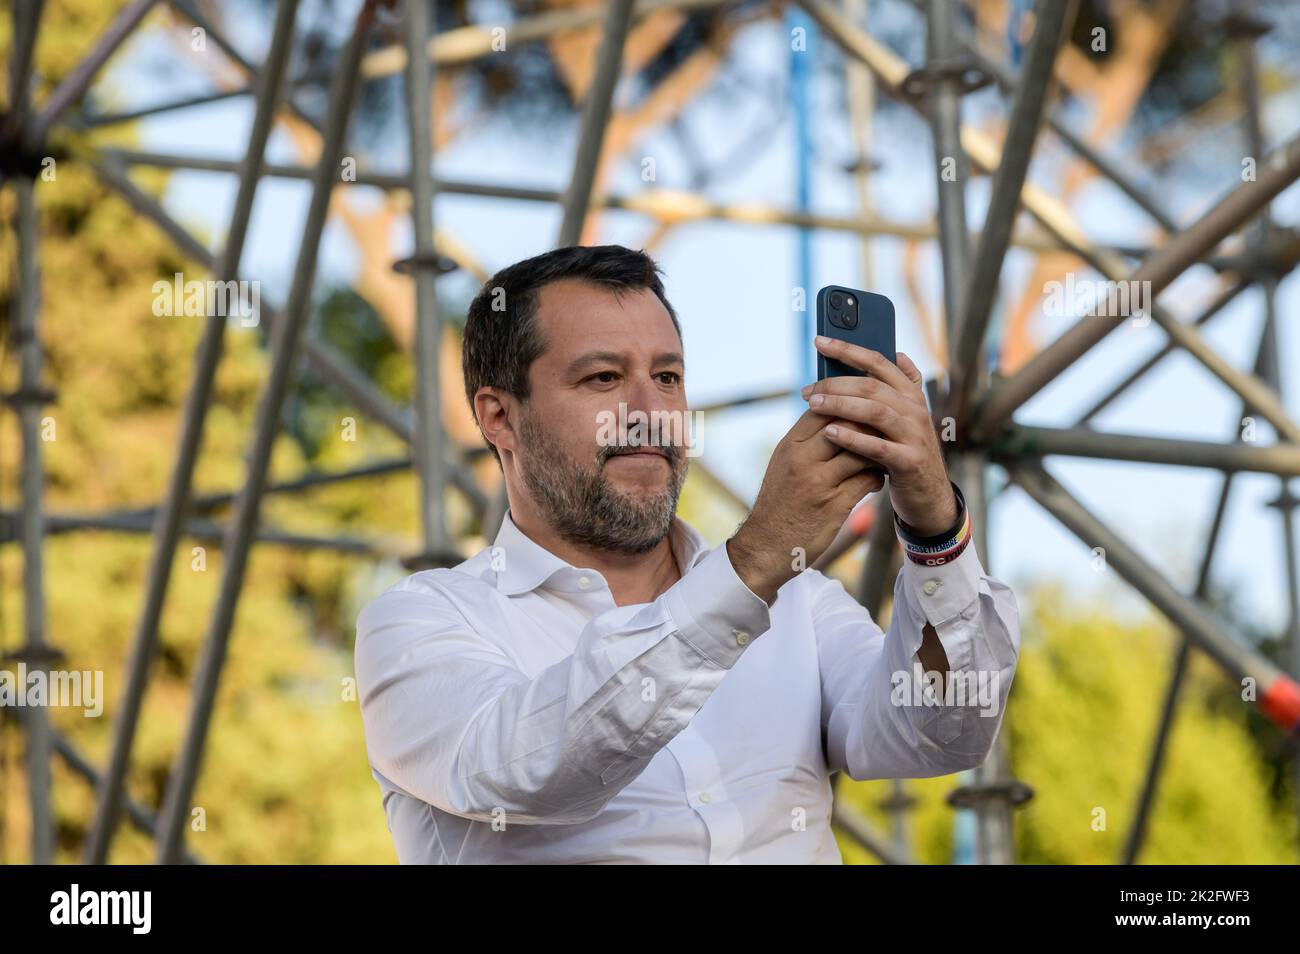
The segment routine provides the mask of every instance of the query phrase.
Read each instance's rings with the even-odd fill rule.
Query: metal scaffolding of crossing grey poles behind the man
[[[901,1],[901,0],[900,0]],[[603,23],[603,39],[595,56],[588,87],[578,142],[569,177],[563,192],[524,186],[490,186],[477,182],[452,182],[433,173],[433,83],[438,68],[450,68],[482,57],[494,49],[486,26],[465,26],[438,31],[432,16],[433,5],[425,0],[364,0],[339,62],[330,78],[326,114],[322,122],[309,117],[295,103],[295,87],[287,81],[287,64],[294,48],[298,0],[278,0],[274,26],[265,61],[260,65],[244,60],[216,25],[208,22],[190,0],[172,0],[173,10],[202,27],[207,36],[244,75],[248,86],[233,92],[188,96],[146,110],[109,117],[87,117],[69,113],[90,90],[99,70],[122,43],[146,21],[160,0],[131,0],[125,4],[104,35],[84,60],[46,97],[30,101],[32,60],[43,14],[42,0],[16,0],[13,4],[14,48],[10,62],[9,103],[0,129],[0,162],[5,185],[16,194],[17,285],[14,316],[10,322],[21,361],[17,390],[5,395],[20,422],[21,513],[8,515],[6,525],[14,528],[9,538],[18,539],[23,554],[25,641],[6,659],[23,662],[29,669],[52,668],[60,654],[49,645],[44,619],[44,580],[42,551],[46,535],[77,532],[82,528],[105,528],[126,533],[152,533],[152,550],[146,578],[144,604],[134,633],[133,649],[126,663],[126,690],[116,714],[112,754],[108,766],[99,771],[72,743],[53,732],[39,707],[21,711],[20,728],[26,740],[26,775],[30,786],[32,819],[31,857],[34,862],[53,860],[55,827],[51,812],[51,759],[57,754],[74,773],[96,789],[96,810],[84,847],[84,860],[104,863],[122,815],[138,829],[153,836],[156,860],[160,863],[195,862],[185,849],[185,820],[199,769],[204,743],[213,717],[217,685],[243,589],[251,548],[255,543],[298,547],[334,547],[360,554],[382,554],[377,542],[356,538],[321,538],[290,534],[261,525],[261,500],[266,494],[289,494],[309,486],[364,480],[370,476],[415,468],[419,476],[419,515],[421,547],[407,555],[408,568],[451,565],[462,559],[458,542],[447,526],[445,503],[452,491],[460,494],[489,535],[504,513],[503,490],[491,494],[478,486],[471,464],[484,451],[462,451],[447,439],[439,407],[438,351],[442,321],[438,313],[437,278],[443,270],[434,239],[434,196],[438,192],[498,196],[521,201],[558,203],[563,224],[558,244],[578,243],[592,208],[621,208],[656,217],[660,221],[693,221],[718,218],[737,224],[784,224],[797,229],[845,230],[861,237],[901,237],[913,240],[936,239],[942,260],[942,300],[946,316],[948,374],[928,382],[936,424],[956,422],[956,439],[949,443],[949,465],[966,491],[968,504],[980,526],[987,526],[991,503],[985,476],[1001,471],[1023,491],[1087,547],[1104,547],[1108,564],[1150,604],[1165,615],[1180,633],[1180,646],[1171,664],[1171,676],[1162,704],[1158,728],[1152,742],[1148,771],[1138,797],[1138,812],[1121,859],[1138,859],[1147,831],[1162,755],[1176,711],[1176,699],[1192,650],[1199,650],[1234,680],[1254,680],[1258,686],[1257,706],[1294,741],[1300,730],[1300,568],[1296,565],[1295,507],[1290,481],[1300,476],[1300,424],[1287,413],[1280,395],[1279,357],[1277,347],[1277,300],[1279,281],[1300,261],[1300,242],[1295,234],[1277,227],[1270,217],[1271,200],[1300,177],[1300,136],[1273,151],[1266,148],[1260,120],[1260,92],[1254,42],[1268,25],[1253,18],[1253,9],[1235,13],[1230,22],[1235,34],[1230,43],[1242,55],[1242,116],[1248,155],[1257,157],[1258,174],[1234,183],[1208,212],[1196,221],[1180,225],[1161,204],[1145,194],[1128,175],[1088,146],[1050,105],[1058,51],[1072,26],[1078,3],[1036,0],[1032,10],[1034,34],[1024,51],[1018,73],[997,64],[979,48],[963,26],[959,0],[913,0],[924,13],[928,25],[927,62],[910,69],[887,45],[866,29],[866,5],[848,0],[842,6],[831,0],[797,0],[798,6],[844,52],[849,61],[846,81],[857,86],[850,91],[857,138],[870,136],[870,109],[879,92],[918,110],[933,133],[933,155],[937,186],[937,227],[890,222],[875,214],[862,192],[863,204],[857,213],[829,216],[780,208],[728,208],[693,198],[682,204],[671,196],[650,191],[644,195],[610,195],[597,188],[597,172],[606,147],[606,131],[612,113],[614,92],[620,79],[625,42],[629,30],[645,17],[662,10],[723,10],[725,0],[610,0],[580,8],[566,8],[528,16],[508,27],[510,48],[545,40],[552,35]],[[389,17],[381,8],[400,5],[400,31],[404,43],[376,48],[374,25]],[[780,9],[777,9],[780,13]],[[406,175],[380,174],[360,169],[354,181],[341,182],[338,168],[346,155],[347,129],[359,88],[377,77],[402,73],[407,101],[410,134],[410,168]],[[996,84],[1008,104],[1008,133],[998,143],[987,133],[963,123],[963,97],[983,86]],[[40,273],[39,221],[34,191],[40,186],[40,160],[52,148],[49,136],[61,125],[75,123],[84,129],[94,125],[124,122],[165,110],[182,110],[212,103],[230,95],[251,94],[255,116],[244,157],[239,162],[214,159],[166,156],[142,151],[100,149],[78,153],[72,161],[94,169],[103,185],[122,198],[140,217],[157,225],[191,260],[211,270],[222,282],[237,281],[248,233],[257,186],[264,177],[290,177],[311,183],[311,201],[298,248],[292,281],[282,311],[264,308],[272,328],[270,372],[261,386],[254,432],[247,452],[247,481],[237,491],[198,498],[192,494],[195,463],[203,442],[204,420],[212,403],[214,378],[222,355],[225,316],[209,316],[195,354],[188,398],[183,409],[172,478],[165,496],[156,507],[118,509],[100,515],[52,515],[42,503],[42,455],[38,433],[40,408],[55,399],[42,386],[40,344]],[[272,165],[265,162],[268,138],[277,112],[286,109],[308,122],[321,134],[322,148],[315,168]],[[866,110],[866,112],[864,112]],[[1035,144],[1044,130],[1080,160],[1112,182],[1154,222],[1166,239],[1153,248],[1119,248],[1092,242],[1071,216],[1069,208],[1028,182],[1027,173]],[[859,182],[864,182],[867,157],[859,157]],[[161,204],[142,191],[130,178],[133,168],[192,168],[228,172],[238,179],[238,194],[225,244],[220,255],[191,235],[172,218]],[[966,186],[971,170],[992,177],[992,195],[983,225],[972,238],[966,221]],[[312,290],[316,278],[321,233],[325,227],[330,198],[335,188],[376,186],[410,194],[413,225],[413,252],[395,263],[398,270],[413,277],[416,302],[416,335],[413,367],[416,400],[413,409],[395,406],[374,382],[307,330]],[[1017,229],[1020,212],[1028,213],[1035,226]],[[1248,231],[1247,231],[1248,230]],[[1218,250],[1230,237],[1244,234],[1243,248],[1235,256]],[[1165,331],[1167,343],[1135,372],[1119,381],[1104,398],[1083,412],[1075,426],[1028,426],[1015,420],[1015,413],[1031,398],[1057,380],[1075,361],[1115,330],[1130,313],[1095,313],[1079,318],[1060,338],[1050,342],[1018,372],[1009,377],[987,370],[984,351],[989,343],[991,318],[994,312],[1004,260],[1011,248],[1031,251],[1072,252],[1108,281],[1149,282],[1152,295],[1167,289],[1179,276],[1196,264],[1210,264],[1228,276],[1232,283],[1193,321],[1176,320],[1153,304],[1150,317]],[[1238,295],[1249,287],[1264,291],[1265,321],[1252,372],[1231,365],[1217,354],[1199,330],[1214,318]],[[1141,380],[1166,355],[1184,351],[1217,377],[1240,399],[1244,413],[1256,413],[1269,421],[1278,434],[1273,446],[1253,446],[1232,439],[1188,441],[1115,434],[1092,428],[1092,419],[1124,390]],[[273,441],[280,429],[281,412],[302,364],[317,374],[339,395],[352,402],[396,434],[410,448],[411,456],[377,461],[372,465],[339,473],[317,473],[294,481],[270,482],[269,465]],[[75,386],[75,382],[69,382]],[[749,395],[708,411],[720,411],[758,400],[788,399],[790,391]],[[1100,460],[1124,460],[1148,464],[1171,464],[1208,468],[1222,473],[1223,482],[1196,587],[1183,593],[1160,569],[1150,565],[1124,539],[1108,528],[1074,498],[1044,467],[1048,456],[1074,456]],[[710,476],[701,461],[701,473]],[[1287,629],[1287,668],[1274,664],[1232,625],[1208,604],[1210,565],[1226,521],[1227,502],[1238,473],[1273,474],[1279,478],[1279,495],[1271,504],[1278,509],[1286,548],[1286,578],[1290,604]],[[202,521],[196,515],[233,504],[233,516],[225,525]],[[166,785],[157,816],[133,803],[126,795],[126,775],[131,750],[150,680],[150,669],[159,650],[159,625],[166,602],[170,568],[182,535],[221,539],[225,554],[220,595],[202,643],[194,680],[191,711],[181,750]],[[978,534],[980,556],[989,560],[987,534]],[[842,554],[866,545],[858,597],[874,615],[885,606],[888,584],[898,572],[898,547],[892,532],[888,499],[878,506],[870,532],[844,534],[833,551],[819,565],[833,563]],[[1296,760],[1296,789],[1300,793],[1300,759]],[[988,762],[954,790],[950,803],[968,808],[976,819],[976,857],[983,863],[1014,862],[1014,807],[1032,797],[1024,782],[1011,775],[1009,753],[1001,737]],[[906,811],[910,805],[901,785],[885,802],[893,818],[892,834],[881,834],[849,806],[837,799],[835,821],[840,831],[888,863],[910,863],[906,841]]]

